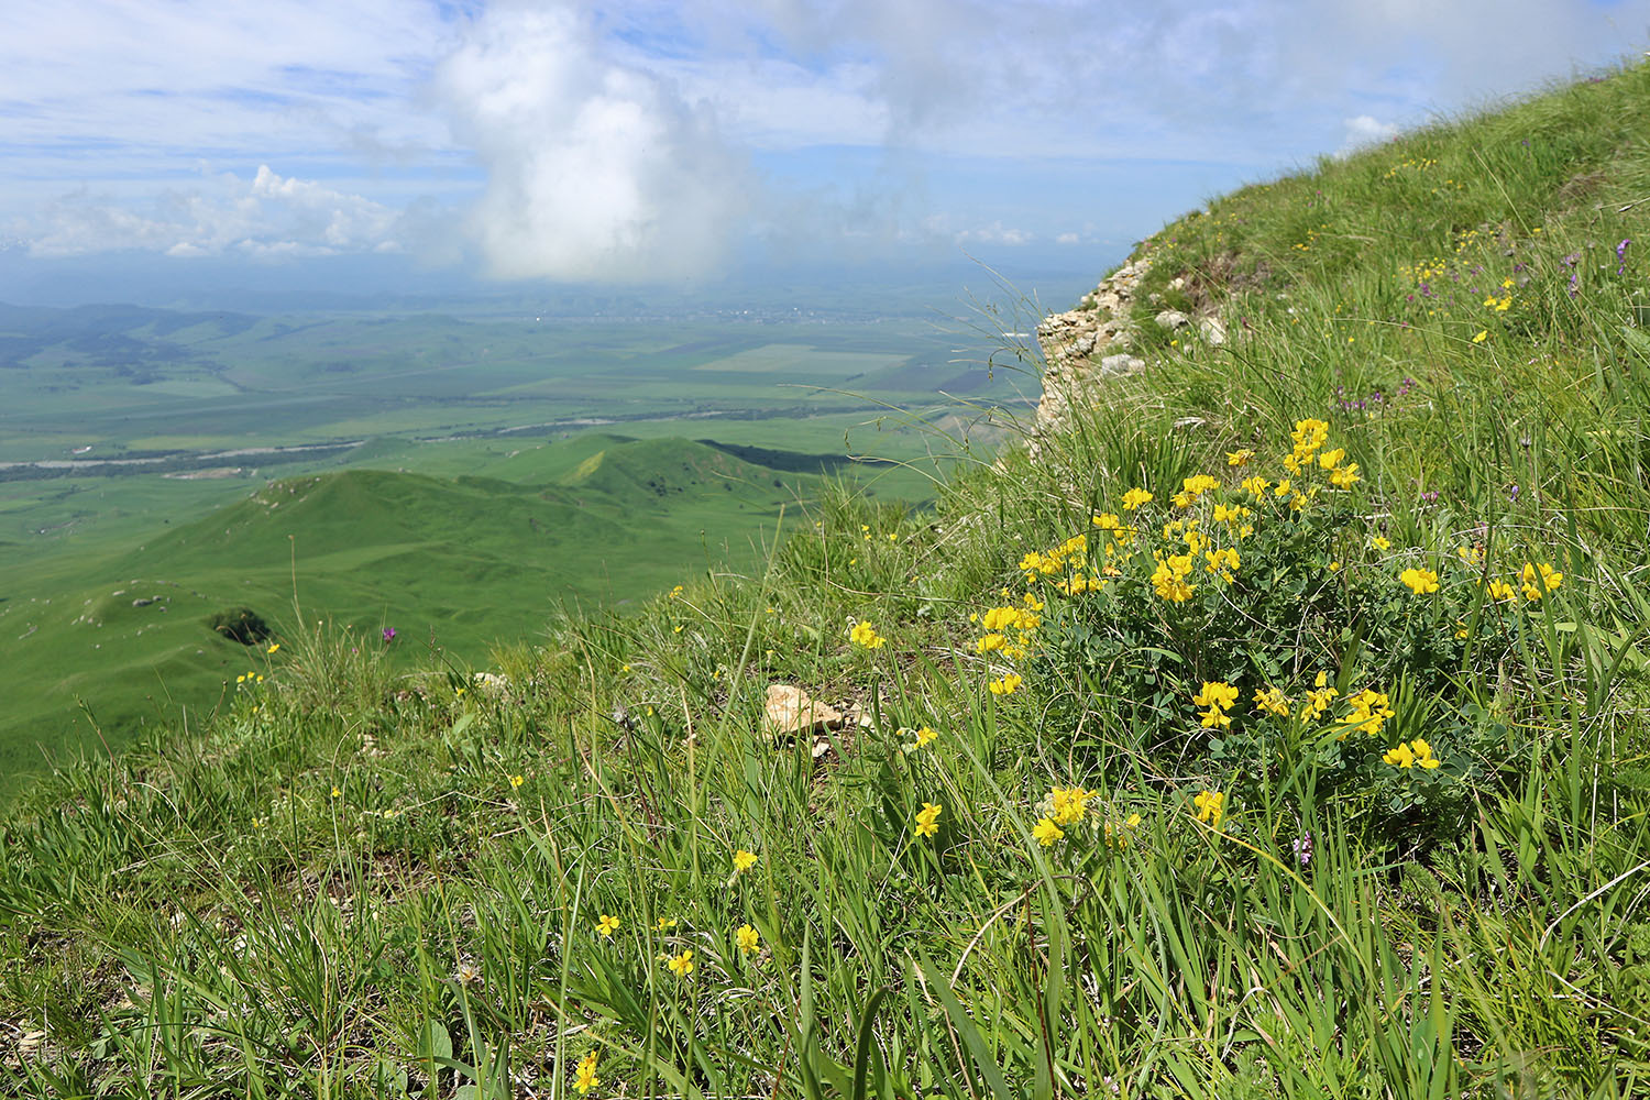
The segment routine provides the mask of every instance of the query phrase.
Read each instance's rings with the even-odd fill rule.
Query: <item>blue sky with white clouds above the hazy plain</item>
[[[1213,195],[1638,58],[1650,0],[13,0],[7,31],[0,299],[135,300],[1097,277]]]

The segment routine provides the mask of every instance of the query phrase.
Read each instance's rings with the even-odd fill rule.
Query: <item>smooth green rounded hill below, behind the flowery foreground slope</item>
[[[35,584],[10,576],[0,663],[15,689],[0,762],[13,775],[38,770],[43,752],[119,745],[183,707],[218,706],[226,684],[264,665],[206,625],[219,612],[252,609],[279,638],[297,625],[295,594],[307,615],[368,645],[393,627],[403,665],[431,646],[480,663],[497,643],[536,637],[564,602],[670,587],[706,546],[749,562],[749,533],[813,491],[807,477],[685,439],[581,437],[493,473],[521,480],[361,468],[285,478],[112,559],[81,561],[71,582],[63,562]]]

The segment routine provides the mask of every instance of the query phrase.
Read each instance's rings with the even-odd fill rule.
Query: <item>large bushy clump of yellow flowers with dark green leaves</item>
[[[1299,421],[1270,458],[1224,454],[1178,487],[1101,501],[1086,531],[1020,559],[1025,594],[975,615],[990,689],[1076,673],[1134,711],[1142,747],[1256,777],[1310,759],[1322,790],[1374,792],[1396,813],[1452,785],[1460,798],[1464,778],[1510,759],[1470,706],[1406,706],[1449,698],[1464,661],[1492,670],[1564,574],[1533,556],[1495,569],[1473,543],[1394,544],[1327,421]],[[1081,706],[1081,691],[1053,694]],[[1049,811],[1033,833],[1049,848],[1068,825]]]

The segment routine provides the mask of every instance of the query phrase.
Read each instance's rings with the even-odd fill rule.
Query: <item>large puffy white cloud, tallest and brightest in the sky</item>
[[[495,275],[676,279],[728,247],[747,196],[711,110],[620,61],[581,12],[488,10],[436,91],[487,170],[470,228]]]

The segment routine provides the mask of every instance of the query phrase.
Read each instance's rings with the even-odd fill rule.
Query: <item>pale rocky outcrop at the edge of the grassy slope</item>
[[[1059,430],[1074,399],[1104,378],[1129,374],[1145,366],[1145,361],[1129,353],[1134,343],[1130,312],[1140,277],[1150,269],[1143,257],[1130,261],[1101,280],[1082,303],[1068,312],[1054,313],[1036,327],[1038,345],[1043,348],[1043,399],[1036,407],[1036,425],[1031,432],[1031,452],[1040,439]]]

